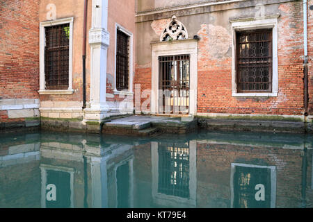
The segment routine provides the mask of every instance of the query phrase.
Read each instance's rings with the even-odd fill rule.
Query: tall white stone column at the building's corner
[[[93,0],[92,27],[89,31],[90,111],[106,110],[106,55],[110,39],[107,28],[108,0]],[[91,119],[102,119],[102,115]]]

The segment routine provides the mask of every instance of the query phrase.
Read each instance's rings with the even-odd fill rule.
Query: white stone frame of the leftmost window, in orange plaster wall
[[[73,23],[74,17],[69,17],[65,19],[56,19],[53,21],[40,22],[40,90],[39,94],[49,95],[49,94],[73,94],[74,90],[72,87],[72,60],[73,60]],[[61,24],[70,24],[70,47],[69,47],[69,71],[68,71],[68,89],[63,90],[48,90],[46,89],[45,83],[45,28],[49,26],[57,26]]]

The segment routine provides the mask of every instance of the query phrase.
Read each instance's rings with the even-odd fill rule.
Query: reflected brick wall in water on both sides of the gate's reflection
[[[150,144],[134,147],[135,207],[152,199],[152,160]],[[196,207],[230,207],[231,164],[276,167],[276,207],[300,207],[303,151],[273,146],[244,146],[224,142],[197,142]],[[312,207],[312,151],[307,150],[307,207]],[[144,194],[146,191],[147,194]]]

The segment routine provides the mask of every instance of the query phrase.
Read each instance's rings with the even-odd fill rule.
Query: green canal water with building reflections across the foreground
[[[310,135],[0,135],[0,207],[312,207]]]

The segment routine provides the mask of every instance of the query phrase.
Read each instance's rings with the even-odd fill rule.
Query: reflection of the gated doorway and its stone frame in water
[[[195,142],[152,142],[151,152],[154,204],[160,207],[195,207]]]

